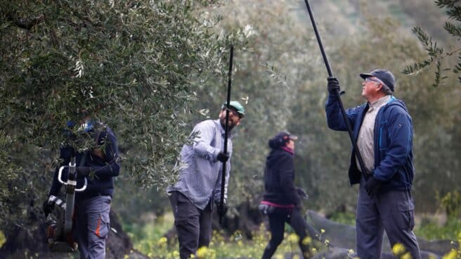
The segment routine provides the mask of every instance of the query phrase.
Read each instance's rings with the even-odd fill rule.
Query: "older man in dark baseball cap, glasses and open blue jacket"
[[[413,233],[413,125],[403,101],[392,94],[396,87],[389,70],[375,69],[361,73],[362,96],[366,103],[346,110],[353,128],[353,149],[349,181],[360,184],[358,191],[356,229],[359,258],[381,258],[384,230],[391,247],[405,246],[413,259],[421,258]],[[325,105],[328,127],[347,131],[346,121],[338,103],[339,82],[328,77],[328,99]],[[356,158],[360,152],[365,172]]]

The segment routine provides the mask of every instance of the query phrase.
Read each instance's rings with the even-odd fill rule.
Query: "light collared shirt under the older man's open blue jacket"
[[[389,99],[391,99],[390,95],[383,96],[382,98],[374,101],[372,103],[368,103],[368,110],[365,113],[365,117],[363,118],[363,122],[361,125],[361,129],[358,132],[357,137],[357,147],[361,153],[363,158],[363,163],[365,164],[365,169],[368,173],[373,172],[375,169],[375,120],[376,115],[378,114],[379,109],[386,104]],[[358,163],[358,159],[356,158],[357,168],[361,170],[360,163]]]

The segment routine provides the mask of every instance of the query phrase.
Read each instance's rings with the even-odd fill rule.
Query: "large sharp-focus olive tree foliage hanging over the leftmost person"
[[[187,137],[181,114],[190,113],[196,99],[190,87],[206,84],[204,75],[224,75],[227,46],[241,38],[242,32],[216,34],[221,18],[209,10],[219,3],[0,5],[1,225],[26,222],[29,209],[40,213],[34,201],[51,183],[59,147],[91,145],[84,134],[63,134],[77,133],[66,122],[78,123],[86,113],[115,131],[122,174],[143,187],[174,181]],[[15,189],[21,194],[13,196]]]

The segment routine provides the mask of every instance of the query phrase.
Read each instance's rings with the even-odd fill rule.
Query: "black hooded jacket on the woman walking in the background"
[[[271,144],[270,144],[271,146]],[[264,169],[264,201],[294,206],[301,199],[294,186],[294,163],[292,153],[277,146],[271,146]]]

